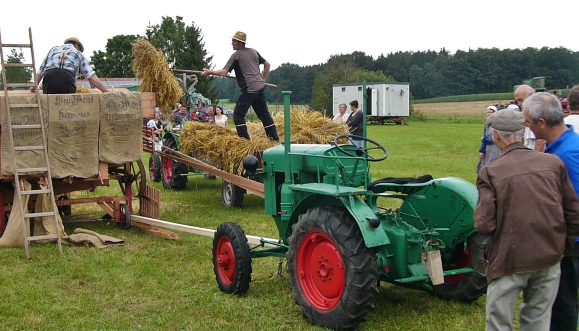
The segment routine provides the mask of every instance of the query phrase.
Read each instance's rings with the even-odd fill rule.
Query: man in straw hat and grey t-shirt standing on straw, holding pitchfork
[[[269,74],[269,62],[265,61],[258,51],[245,47],[247,36],[237,31],[232,38],[233,50],[236,52],[231,55],[225,67],[221,70],[204,69],[202,76],[217,75],[226,76],[228,72],[235,70],[237,85],[241,94],[233,110],[233,122],[237,129],[237,135],[245,139],[250,139],[245,125],[245,114],[250,106],[255,110],[255,114],[263,123],[263,128],[269,139],[280,140],[277,136],[276,124],[267,109],[265,101],[265,79]],[[263,73],[259,72],[259,65],[263,64]]]

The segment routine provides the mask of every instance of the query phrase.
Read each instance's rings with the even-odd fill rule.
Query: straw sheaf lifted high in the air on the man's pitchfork
[[[133,71],[142,80],[139,91],[154,92],[157,107],[163,114],[170,115],[171,109],[183,95],[181,86],[162,51],[155,49],[144,39],[133,43]]]

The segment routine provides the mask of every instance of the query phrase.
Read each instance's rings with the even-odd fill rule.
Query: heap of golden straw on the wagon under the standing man
[[[346,125],[332,122],[317,111],[293,107],[290,114],[292,143],[329,144],[336,136],[347,133]],[[277,114],[273,119],[280,140],[283,141],[284,116]],[[240,138],[234,129],[189,122],[179,139],[184,153],[212,163],[226,172],[240,175],[244,172],[243,158],[279,144],[266,137],[261,122],[249,122],[247,129],[251,140]]]

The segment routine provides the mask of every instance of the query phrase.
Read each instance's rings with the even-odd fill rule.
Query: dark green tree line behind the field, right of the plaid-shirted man
[[[171,68],[211,68],[201,28],[186,24],[182,17],[162,17],[160,24],[145,34],[117,35],[108,39],[105,51],[95,51],[92,63],[98,76],[133,77],[131,46],[135,38],[145,38],[166,55]],[[267,55],[266,50],[262,50]],[[273,64],[276,65],[276,64]],[[513,85],[535,76],[551,76],[548,88],[564,88],[579,83],[579,52],[565,47],[536,49],[476,49],[439,51],[398,51],[377,58],[361,51],[335,54],[323,64],[301,66],[285,63],[270,72],[268,102],[282,102],[280,91],[292,91],[292,103],[321,109],[331,103],[332,84],[366,81],[404,81],[415,99],[438,96],[512,91]],[[200,77],[197,92],[213,101],[235,101],[239,88],[235,80]]]

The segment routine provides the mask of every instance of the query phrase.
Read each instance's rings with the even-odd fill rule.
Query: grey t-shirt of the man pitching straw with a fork
[[[247,47],[237,50],[223,69],[231,72],[235,70],[237,85],[242,93],[257,92],[265,87],[263,77],[259,72],[259,65],[265,63],[265,58],[259,55],[258,51]]]

